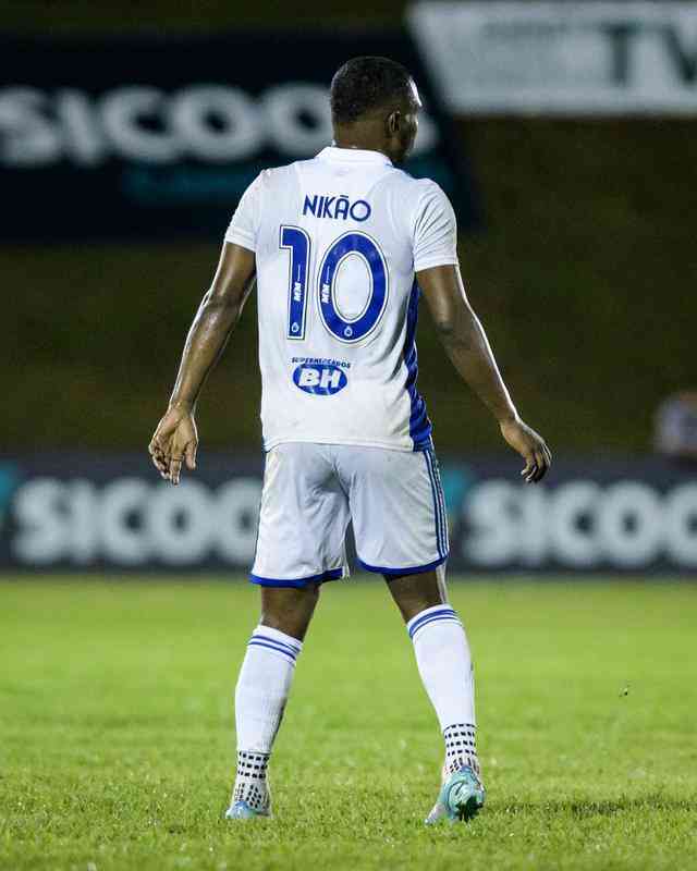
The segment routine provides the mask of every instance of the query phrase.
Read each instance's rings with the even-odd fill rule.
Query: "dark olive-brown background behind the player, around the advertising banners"
[[[396,27],[403,8],[310,2],[292,26]],[[23,2],[5,4],[2,25],[109,35],[289,20],[270,3]],[[521,412],[558,451],[650,450],[658,404],[697,381],[696,134],[697,123],[670,119],[456,123],[484,213],[461,236],[470,297]],[[145,449],[218,252],[218,242],[2,246],[0,445]],[[250,302],[200,404],[204,449],[260,443],[255,314]],[[437,445],[498,447],[427,317],[419,355]]]

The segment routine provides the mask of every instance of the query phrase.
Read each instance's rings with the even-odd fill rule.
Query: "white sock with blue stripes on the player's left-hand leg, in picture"
[[[258,810],[268,807],[266,770],[302,649],[297,638],[268,626],[259,625],[252,633],[235,689],[237,775],[233,801],[247,801]]]

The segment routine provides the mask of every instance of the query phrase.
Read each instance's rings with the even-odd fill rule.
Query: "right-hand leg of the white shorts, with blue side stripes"
[[[339,467],[364,568],[406,576],[445,562],[445,501],[432,451],[346,447]]]

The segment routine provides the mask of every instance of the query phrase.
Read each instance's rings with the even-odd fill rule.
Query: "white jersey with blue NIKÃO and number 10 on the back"
[[[329,147],[258,175],[225,242],[256,255],[267,451],[431,444],[414,273],[456,263],[456,235],[441,188],[378,151]]]

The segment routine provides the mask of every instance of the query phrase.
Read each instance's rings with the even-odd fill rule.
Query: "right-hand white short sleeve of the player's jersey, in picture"
[[[443,191],[429,182],[414,220],[414,271],[457,265],[457,221]]]

